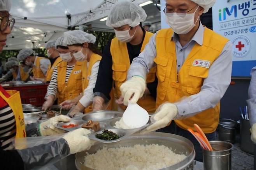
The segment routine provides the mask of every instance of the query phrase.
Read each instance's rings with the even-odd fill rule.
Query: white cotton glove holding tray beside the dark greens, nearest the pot
[[[68,143],[70,154],[90,149],[90,147],[95,142],[88,138],[88,134],[90,133],[91,131],[88,129],[79,128],[70,133],[67,133],[67,135],[63,137]]]

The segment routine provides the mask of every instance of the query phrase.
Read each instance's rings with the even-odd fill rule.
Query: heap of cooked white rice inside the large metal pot
[[[156,170],[186,158],[164,145],[106,148],[84,157],[84,165],[96,170]]]

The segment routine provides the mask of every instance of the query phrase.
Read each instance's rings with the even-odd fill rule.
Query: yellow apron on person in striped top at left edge
[[[6,98],[5,95],[0,91],[0,96],[8,103],[11,107],[12,112],[16,121],[16,136],[15,138],[25,138],[25,121],[23,117],[23,110],[21,105],[21,97],[19,96],[19,91],[7,90],[7,93],[11,95],[9,98]]]

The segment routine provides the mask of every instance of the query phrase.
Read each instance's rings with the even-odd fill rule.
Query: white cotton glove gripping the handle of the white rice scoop
[[[124,82],[120,90],[124,97],[124,105],[128,105],[128,101],[135,104],[144,94],[146,89],[146,81],[139,76],[133,76],[130,80]]]

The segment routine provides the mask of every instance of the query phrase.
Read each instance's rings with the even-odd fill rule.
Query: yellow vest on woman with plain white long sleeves
[[[102,56],[93,53],[91,55],[88,68],[87,68],[87,60],[83,62],[83,65],[82,65],[82,91],[84,91],[84,89],[86,89],[87,86],[89,85],[89,77],[91,75],[91,69],[92,69],[93,65],[97,61],[100,61],[101,58],[102,58]],[[91,103],[91,105],[86,107],[86,109],[84,109],[84,113],[89,113],[92,111],[93,111],[92,103]]]

